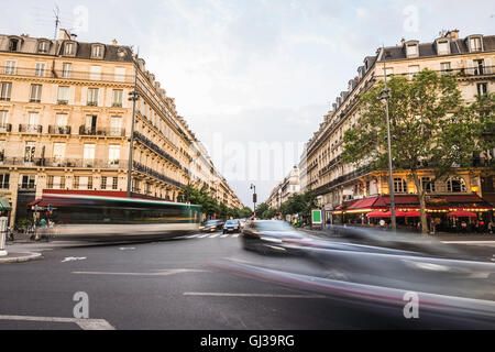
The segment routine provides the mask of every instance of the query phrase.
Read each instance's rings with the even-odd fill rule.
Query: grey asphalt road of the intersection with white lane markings
[[[428,314],[406,319],[402,309],[342,301],[272,283],[270,277],[223,271],[221,263],[300,274],[320,268],[304,257],[244,251],[238,237],[220,232],[152,243],[53,242],[35,248],[43,250],[43,260],[0,266],[0,330],[495,328]],[[493,246],[483,251],[495,254]],[[80,292],[89,299],[88,321],[74,318],[73,298]]]

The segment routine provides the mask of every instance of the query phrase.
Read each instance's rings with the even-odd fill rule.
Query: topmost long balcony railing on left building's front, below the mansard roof
[[[0,66],[0,75],[7,76],[24,76],[24,77],[40,77],[40,70],[35,68],[25,68],[25,67],[7,67]],[[67,77],[68,76],[68,77]],[[118,81],[118,82],[133,82],[134,75],[114,75],[114,74],[91,74],[89,72],[63,72],[62,69],[46,69],[44,72],[44,78],[63,78],[63,79],[80,79],[80,80],[102,80],[102,81]]]

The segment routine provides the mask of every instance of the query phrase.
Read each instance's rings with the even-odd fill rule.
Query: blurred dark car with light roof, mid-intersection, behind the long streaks
[[[245,250],[268,253],[300,254],[300,242],[310,241],[280,220],[254,220],[242,230],[241,242]]]

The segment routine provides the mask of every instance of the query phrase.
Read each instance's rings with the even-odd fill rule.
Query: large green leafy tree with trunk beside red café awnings
[[[480,129],[473,108],[461,98],[457,78],[425,69],[411,80],[388,81],[392,157],[395,169],[414,179],[427,235],[426,190],[418,172],[427,167],[435,179],[469,168],[479,151]],[[358,168],[387,169],[387,127],[381,82],[360,97],[355,127],[344,134],[342,161]]]

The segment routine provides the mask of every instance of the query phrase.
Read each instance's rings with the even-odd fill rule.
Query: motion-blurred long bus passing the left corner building
[[[30,204],[51,239],[158,240],[199,231],[201,207],[145,198],[44,193]],[[52,211],[50,211],[52,210]]]

